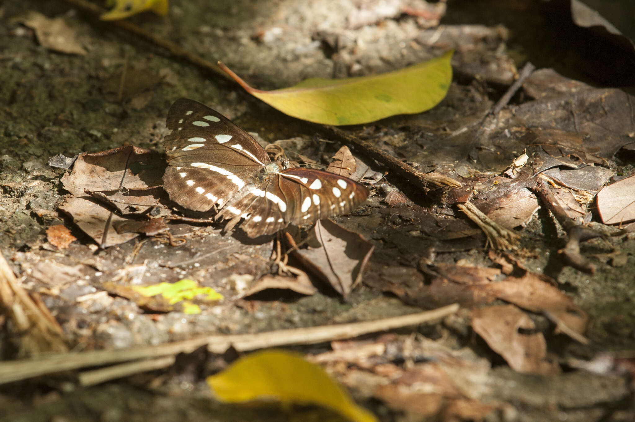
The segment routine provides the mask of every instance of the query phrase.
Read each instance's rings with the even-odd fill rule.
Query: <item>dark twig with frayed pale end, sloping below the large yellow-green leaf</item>
[[[461,184],[451,177],[446,176],[432,176],[425,174],[417,169],[414,169],[411,165],[408,165],[395,157],[392,157],[389,153],[382,151],[375,146],[372,146],[366,141],[362,141],[356,136],[348,134],[337,127],[324,126],[324,132],[326,134],[337,138],[340,142],[349,144],[356,148],[359,152],[363,153],[367,157],[373,158],[378,162],[384,164],[389,169],[393,170],[399,176],[404,177],[407,181],[411,182],[415,186],[424,191],[429,190],[429,184],[435,187],[441,186],[461,186]]]

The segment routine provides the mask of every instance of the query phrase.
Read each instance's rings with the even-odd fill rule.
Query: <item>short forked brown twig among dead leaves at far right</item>
[[[595,265],[591,264],[591,262],[587,261],[587,259],[580,254],[580,241],[599,238],[602,234],[589,227],[575,224],[575,221],[566,215],[565,210],[563,210],[558,199],[556,199],[556,196],[552,193],[551,189],[549,189],[547,182],[545,182],[542,177],[538,181],[537,186],[531,190],[533,190],[533,193],[540,198],[540,201],[549,208],[549,211],[556,217],[556,220],[558,220],[569,237],[565,248],[558,251],[563,255],[566,264],[580,271],[594,274],[596,271]]]

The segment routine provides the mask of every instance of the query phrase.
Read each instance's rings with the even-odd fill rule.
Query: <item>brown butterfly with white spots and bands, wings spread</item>
[[[250,238],[349,214],[368,197],[347,177],[272,162],[250,134],[192,99],[175,101],[167,126],[163,188],[170,199],[193,211],[215,210],[217,221],[229,219],[230,229],[240,223]]]

